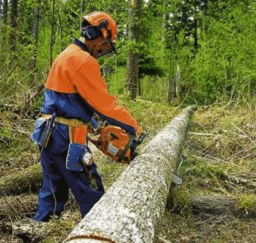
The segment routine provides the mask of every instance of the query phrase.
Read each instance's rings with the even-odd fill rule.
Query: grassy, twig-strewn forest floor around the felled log
[[[182,110],[145,100],[120,99],[118,102],[128,107],[149,133],[144,144]],[[158,243],[256,242],[255,120],[255,103],[245,100],[198,107],[177,162],[176,173],[184,178],[184,184],[171,187]],[[28,136],[33,125],[34,119],[21,114],[18,108],[1,107],[0,179],[38,163],[37,148]],[[107,189],[126,165],[112,162],[101,152],[94,151],[98,171]],[[31,189],[23,195],[0,198],[0,242],[63,242],[80,222],[79,208],[70,195],[60,219],[34,225],[31,216],[36,212],[37,193]],[[234,199],[238,202],[239,214],[233,214],[229,207],[227,210],[223,207],[220,213],[200,207],[195,210],[192,198],[204,197],[220,201]],[[42,237],[35,236],[31,241],[26,235],[17,234],[17,228],[29,225],[31,235],[32,231],[42,230]]]

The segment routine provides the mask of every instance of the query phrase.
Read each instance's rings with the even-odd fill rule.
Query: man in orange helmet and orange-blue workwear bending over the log
[[[109,95],[96,61],[103,54],[117,53],[113,43],[116,34],[117,25],[111,15],[91,12],[82,18],[80,40],[74,39],[53,62],[45,84],[44,115],[37,119],[31,135],[41,149],[43,170],[36,221],[47,222],[52,215],[60,216],[69,188],[82,217],[103,195],[103,184],[86,139],[86,124],[94,113],[128,133],[141,135],[141,127],[130,113]],[[85,165],[77,160],[84,154]]]

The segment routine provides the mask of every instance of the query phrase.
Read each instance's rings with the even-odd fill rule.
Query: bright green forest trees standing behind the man
[[[119,55],[99,60],[112,94],[130,94],[126,67],[133,51],[139,71],[133,99],[185,105],[254,96],[254,1],[134,2],[1,0],[1,102],[38,91],[58,53],[79,38],[80,17],[93,10],[111,13],[118,24]]]

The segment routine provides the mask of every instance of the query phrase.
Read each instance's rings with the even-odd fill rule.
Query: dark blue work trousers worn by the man
[[[37,130],[39,127],[37,127]],[[90,149],[85,146],[87,152]],[[39,146],[41,151],[41,147]],[[69,151],[68,125],[55,122],[47,146],[42,150],[41,164],[43,181],[37,214],[34,220],[48,222],[52,215],[60,216],[68,201],[69,189],[77,200],[82,217],[103,196],[104,187],[94,162],[86,170],[68,170],[66,161]],[[82,168],[82,163],[72,161],[72,168]],[[84,167],[83,167],[84,168]],[[92,189],[87,172],[96,182],[97,189]]]

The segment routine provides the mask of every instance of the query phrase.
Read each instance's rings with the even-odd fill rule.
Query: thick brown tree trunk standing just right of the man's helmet
[[[139,42],[139,30],[141,20],[142,0],[132,0],[132,7],[129,10],[131,24],[128,29],[130,41]],[[131,45],[127,58],[126,89],[131,99],[136,98],[136,91],[139,79],[139,50],[138,45]]]

